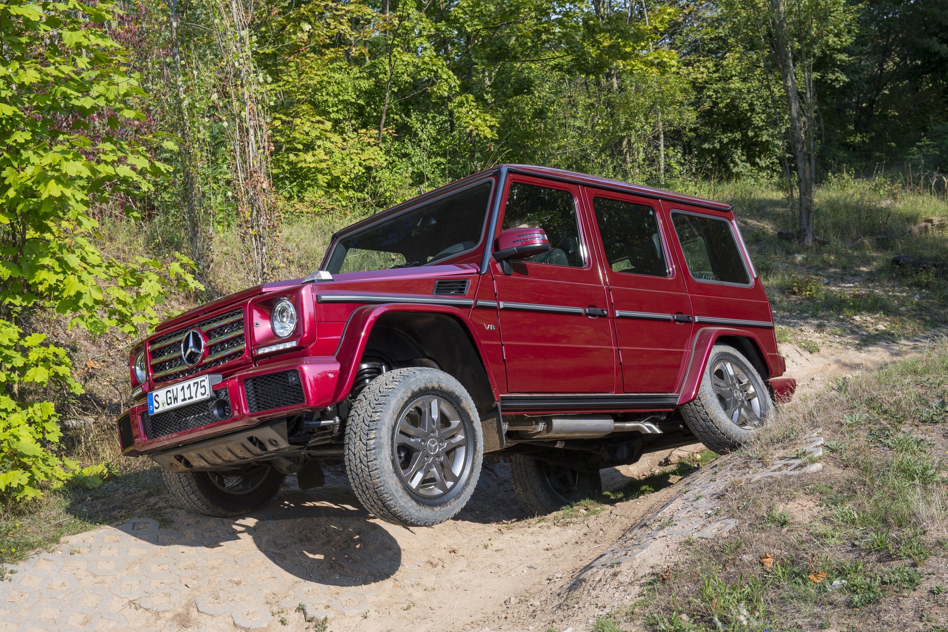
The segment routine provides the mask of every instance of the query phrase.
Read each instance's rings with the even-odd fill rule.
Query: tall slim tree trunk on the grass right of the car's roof
[[[770,25],[774,33],[774,57],[787,96],[787,111],[793,157],[796,162],[797,187],[799,190],[799,233],[797,238],[803,245],[813,243],[813,143],[808,142],[805,113],[796,88],[793,49],[787,32],[787,18],[783,0],[770,0]],[[812,103],[809,104],[810,112]]]

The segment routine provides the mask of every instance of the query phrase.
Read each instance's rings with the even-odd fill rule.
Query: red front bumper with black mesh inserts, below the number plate
[[[279,397],[261,397],[261,387],[254,387],[253,385],[264,384],[265,386],[265,381],[254,381],[251,388],[248,389],[247,387],[247,380],[276,376],[279,373],[294,370],[298,371],[299,374],[301,397],[296,398],[296,402],[289,406],[279,406]],[[173,426],[168,424],[164,424],[159,430],[156,423],[163,416],[173,415],[175,410],[149,418],[148,403],[144,400],[136,402],[118,418],[122,454],[126,456],[146,454],[155,450],[196,442],[234,430],[252,427],[268,419],[286,417],[332,406],[336,403],[334,399],[338,378],[339,363],[335,357],[295,358],[242,370],[228,375],[213,388],[215,394],[219,394],[222,399],[228,400],[230,416],[227,419],[217,420],[210,417],[210,414],[205,415],[213,421],[186,427],[176,432],[169,432],[169,428],[173,428]],[[210,402],[204,402],[201,405],[208,406],[210,410]],[[272,405],[279,407],[267,407]],[[182,410],[182,408],[177,410]],[[200,419],[204,420],[205,417]],[[195,419],[197,418],[195,417]],[[127,425],[123,427],[123,424]],[[185,423],[185,425],[189,424]],[[148,436],[149,433],[152,434],[151,437]],[[131,443],[127,441],[128,439],[131,439]]]

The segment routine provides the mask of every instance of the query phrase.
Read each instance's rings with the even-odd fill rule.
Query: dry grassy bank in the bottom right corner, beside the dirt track
[[[784,410],[738,458],[763,460],[799,429],[823,426],[834,446],[818,478],[729,488],[738,527],[695,541],[647,587],[656,631],[808,630],[944,621],[948,575],[948,340],[919,358],[837,381]],[[788,507],[808,502],[815,515]],[[767,568],[760,560],[772,557]],[[617,623],[623,623],[619,621]]]

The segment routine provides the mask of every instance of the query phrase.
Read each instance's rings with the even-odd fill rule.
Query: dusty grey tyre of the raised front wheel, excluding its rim
[[[392,456],[394,424],[412,401],[424,395],[441,397],[470,422],[466,479],[443,499],[429,501],[410,493],[395,471]],[[367,510],[393,524],[429,527],[456,515],[474,493],[482,460],[483,430],[477,408],[461,383],[442,370],[410,367],[383,373],[359,393],[346,422],[345,465],[353,491]]]

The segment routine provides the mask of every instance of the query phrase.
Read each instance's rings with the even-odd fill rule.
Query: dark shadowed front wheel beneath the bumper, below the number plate
[[[186,509],[214,517],[245,515],[276,496],[283,474],[267,464],[241,472],[169,472],[165,482]]]

